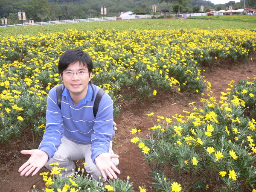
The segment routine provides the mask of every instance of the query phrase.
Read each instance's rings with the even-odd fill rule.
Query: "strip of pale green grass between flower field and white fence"
[[[59,25],[40,25],[22,27],[1,27],[0,37],[33,35],[40,33],[64,32],[67,29],[77,30],[96,29],[128,30],[128,29],[255,29],[256,17],[252,15],[233,15],[236,20],[224,20],[227,16],[197,17],[198,19],[141,19],[141,20],[116,20],[104,22],[70,23]],[[232,16],[232,17],[233,17]],[[229,16],[231,18],[231,16]],[[192,17],[194,18],[194,17]],[[211,18],[211,19],[209,19]],[[216,18],[216,19],[215,19]],[[239,19],[240,18],[240,19]],[[253,19],[252,19],[253,18]],[[218,19],[218,20],[217,20]]]

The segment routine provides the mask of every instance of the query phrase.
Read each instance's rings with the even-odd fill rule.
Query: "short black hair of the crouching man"
[[[93,61],[88,53],[83,52],[80,49],[69,49],[65,51],[58,62],[58,73],[62,73],[70,64],[74,64],[77,61],[81,66],[87,67],[90,73],[93,73]]]

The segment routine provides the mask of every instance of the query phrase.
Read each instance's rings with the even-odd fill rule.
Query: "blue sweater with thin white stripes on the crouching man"
[[[108,152],[113,130],[113,102],[105,93],[94,118],[93,104],[99,87],[88,84],[87,96],[75,106],[67,88],[62,93],[61,109],[57,104],[56,87],[47,98],[46,126],[43,140],[38,149],[45,151],[49,159],[58,150],[63,136],[79,144],[92,144],[92,159]],[[48,160],[49,160],[48,159]]]

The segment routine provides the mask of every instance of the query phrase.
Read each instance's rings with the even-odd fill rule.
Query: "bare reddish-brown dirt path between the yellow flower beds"
[[[251,60],[251,58],[253,60]],[[206,81],[212,84],[213,96],[218,99],[221,92],[225,92],[229,87],[231,80],[253,79],[256,74],[256,54],[253,54],[247,62],[226,62],[221,66],[215,66],[211,72],[209,67],[203,67],[205,70],[202,75]],[[172,117],[174,114],[181,114],[183,110],[191,111],[189,102],[196,102],[200,107],[199,100],[201,96],[189,93],[157,93],[154,99],[142,99],[123,101],[120,103],[120,115],[114,120],[117,123],[116,135],[113,138],[113,150],[119,154],[118,169],[121,171],[120,179],[126,180],[130,177],[133,182],[134,191],[139,192],[139,186],[147,189],[147,192],[154,192],[151,188],[152,180],[149,177],[150,168],[143,164],[143,154],[140,154],[137,145],[131,143],[134,135],[130,134],[131,128],[141,130],[141,135],[147,137],[148,128],[151,128],[156,122],[156,116]],[[154,112],[154,123],[148,113]],[[38,142],[32,142],[31,138],[26,138],[29,145],[37,148]],[[28,160],[29,156],[20,154],[20,150],[29,149],[24,142],[24,136],[13,140],[7,147],[0,144],[0,192],[31,192],[32,186],[36,189],[43,189],[44,181],[39,174],[35,176],[21,177],[18,173],[19,167]],[[82,166],[81,166],[82,167]],[[46,172],[47,169],[41,169]]]

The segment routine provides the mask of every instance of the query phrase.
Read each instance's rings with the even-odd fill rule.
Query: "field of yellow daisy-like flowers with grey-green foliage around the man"
[[[112,97],[115,115],[119,114],[119,101],[153,98],[163,90],[209,91],[203,96],[203,108],[195,107],[186,115],[159,116],[149,139],[141,138],[136,128],[131,130],[135,134],[131,142],[138,144],[150,165],[156,190],[252,190],[256,186],[256,78],[230,82],[230,89],[216,102],[210,95],[211,84],[201,73],[202,65],[214,70],[227,60],[248,59],[256,51],[255,30],[72,28],[0,37],[0,142],[8,145],[24,133],[33,138],[43,134],[47,94],[61,84],[58,58],[67,49],[83,49],[93,59],[92,82]],[[205,175],[208,172],[211,176]],[[47,183],[49,191],[51,182]],[[63,191],[65,182],[55,180],[54,188]],[[128,180],[114,181],[109,188],[98,185],[95,190],[111,191],[111,186],[119,186],[127,191]],[[79,186],[70,191],[88,188]],[[129,186],[129,190],[137,189]]]

